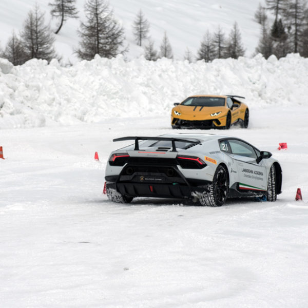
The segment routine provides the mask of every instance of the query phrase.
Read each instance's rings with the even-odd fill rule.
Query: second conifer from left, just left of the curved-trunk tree
[[[37,5],[28,13],[21,38],[26,52],[25,60],[36,58],[50,62],[57,57],[53,48],[55,38],[49,26],[44,25],[44,13]]]

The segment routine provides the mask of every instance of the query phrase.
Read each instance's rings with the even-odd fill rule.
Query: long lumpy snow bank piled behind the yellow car
[[[69,125],[166,114],[191,94],[238,94],[251,108],[305,104],[308,59],[125,62],[122,56],[61,67],[30,60],[0,71],[0,128]]]

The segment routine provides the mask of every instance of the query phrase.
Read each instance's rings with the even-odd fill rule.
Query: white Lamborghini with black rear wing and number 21
[[[134,197],[185,198],[221,206],[227,198],[264,197],[276,201],[282,171],[267,151],[235,137],[171,133],[124,137],[134,144],[111,153],[106,193],[114,202]]]

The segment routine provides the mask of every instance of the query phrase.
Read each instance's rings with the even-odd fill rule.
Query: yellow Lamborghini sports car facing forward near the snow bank
[[[241,123],[248,127],[248,106],[238,95],[193,95],[182,103],[175,103],[171,111],[172,128],[214,128],[229,129],[232,124]]]

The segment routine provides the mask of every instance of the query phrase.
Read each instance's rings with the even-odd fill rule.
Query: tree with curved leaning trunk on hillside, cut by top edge
[[[64,22],[68,18],[78,18],[78,10],[76,9],[75,2],[76,0],[54,0],[54,4],[49,3],[49,5],[52,7],[52,10],[50,11],[52,17],[61,18],[60,26],[54,32],[55,34],[59,33]]]

